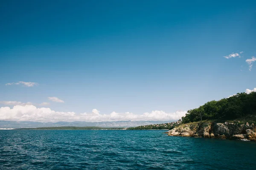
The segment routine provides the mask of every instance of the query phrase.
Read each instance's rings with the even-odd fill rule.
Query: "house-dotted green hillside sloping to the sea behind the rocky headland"
[[[156,125],[144,125],[138,127],[129,127],[128,130],[160,130],[160,129],[172,129],[177,125],[180,125],[180,121],[164,123],[164,124],[156,124]]]

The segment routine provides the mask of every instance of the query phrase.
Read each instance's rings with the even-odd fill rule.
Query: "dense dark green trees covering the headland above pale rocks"
[[[237,119],[247,115],[256,115],[256,92],[238,93],[229,98],[210,101],[189,110],[182,117],[182,123],[212,119]]]

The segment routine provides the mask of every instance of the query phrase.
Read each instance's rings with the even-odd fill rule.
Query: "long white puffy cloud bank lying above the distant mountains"
[[[175,113],[166,113],[164,111],[151,111],[151,113],[143,113],[140,115],[134,113],[116,113],[100,114],[97,109],[93,109],[91,113],[74,113],[74,112],[57,112],[50,108],[37,108],[34,105],[16,105],[13,108],[0,108],[0,120],[13,121],[38,121],[38,122],[58,122],[58,121],[86,121],[86,122],[102,122],[102,121],[141,121],[141,120],[162,120],[173,121],[178,120],[186,114],[186,111],[177,111]]]

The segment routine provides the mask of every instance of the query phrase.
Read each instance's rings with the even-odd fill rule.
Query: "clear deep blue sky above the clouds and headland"
[[[2,107],[175,113],[256,87],[253,0],[5,0],[0,16]]]

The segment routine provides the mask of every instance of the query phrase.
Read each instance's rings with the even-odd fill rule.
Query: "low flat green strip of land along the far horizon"
[[[36,127],[36,128],[19,128],[18,130],[121,130],[122,127],[76,127],[76,126],[60,126],[60,127]]]

